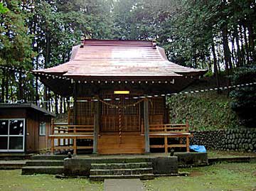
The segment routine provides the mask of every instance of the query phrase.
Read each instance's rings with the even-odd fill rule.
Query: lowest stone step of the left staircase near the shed
[[[22,175],[50,174],[58,175],[64,172],[63,166],[25,166],[22,168]]]

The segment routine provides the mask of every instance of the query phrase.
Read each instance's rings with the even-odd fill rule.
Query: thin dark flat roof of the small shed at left
[[[55,114],[51,113],[50,111],[47,111],[46,109],[38,107],[35,104],[0,104],[0,109],[16,109],[16,108],[33,109],[35,111],[41,112],[42,114],[45,114],[48,116],[55,116]]]

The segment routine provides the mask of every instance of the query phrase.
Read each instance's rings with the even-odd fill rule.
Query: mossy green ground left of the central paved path
[[[21,170],[0,170],[1,191],[96,191],[103,190],[102,183],[90,183],[88,179],[57,179],[54,175],[21,175]]]

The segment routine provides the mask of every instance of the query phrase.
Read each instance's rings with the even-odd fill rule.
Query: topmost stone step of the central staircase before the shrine
[[[91,169],[151,168],[152,163],[92,163]]]

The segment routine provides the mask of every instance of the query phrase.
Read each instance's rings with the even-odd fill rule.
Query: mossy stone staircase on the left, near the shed
[[[33,155],[22,168],[22,175],[33,174],[62,174],[64,172],[64,158],[66,155]]]

